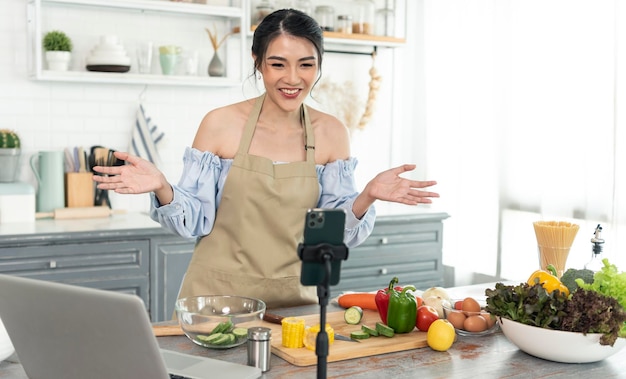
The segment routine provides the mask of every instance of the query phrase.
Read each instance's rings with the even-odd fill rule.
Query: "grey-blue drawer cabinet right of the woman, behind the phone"
[[[372,234],[348,252],[339,284],[343,291],[376,291],[395,276],[417,289],[443,285],[443,220],[446,213],[379,216]]]

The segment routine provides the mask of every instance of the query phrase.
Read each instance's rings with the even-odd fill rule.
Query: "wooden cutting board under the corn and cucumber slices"
[[[320,321],[319,314],[301,316],[301,318],[305,320],[307,326],[319,324]],[[378,321],[380,321],[378,312],[367,309],[363,310],[363,319],[358,325],[346,324],[343,319],[343,311],[332,312],[326,315],[326,322],[333,327],[335,333],[342,334],[346,337],[350,336],[350,332],[361,330],[361,325],[363,324],[374,328]],[[280,325],[270,324],[264,321],[263,326],[272,329],[272,353],[296,366],[311,366],[317,364],[315,351],[305,347],[290,349],[282,346],[282,328]],[[417,329],[411,333],[396,334],[392,338],[384,336],[370,337],[360,342],[335,340],[329,347],[327,361],[343,361],[396,351],[417,349],[425,346],[428,346],[426,333],[420,332]]]

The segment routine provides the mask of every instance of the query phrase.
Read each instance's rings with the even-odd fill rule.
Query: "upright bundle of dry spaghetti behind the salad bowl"
[[[545,270],[548,264],[552,264],[560,277],[565,271],[565,263],[579,225],[567,221],[536,221],[533,227],[539,245],[541,268]]]

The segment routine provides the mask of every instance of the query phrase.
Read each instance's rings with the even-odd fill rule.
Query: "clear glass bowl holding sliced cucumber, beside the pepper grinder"
[[[265,303],[241,296],[193,296],[176,301],[176,316],[195,344],[228,349],[248,340],[248,328],[261,326]]]

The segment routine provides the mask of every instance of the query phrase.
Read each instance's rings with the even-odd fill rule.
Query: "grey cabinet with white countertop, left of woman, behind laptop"
[[[139,296],[171,319],[194,241],[144,214],[0,225],[0,273]]]

